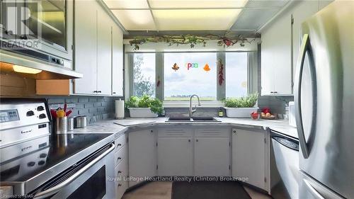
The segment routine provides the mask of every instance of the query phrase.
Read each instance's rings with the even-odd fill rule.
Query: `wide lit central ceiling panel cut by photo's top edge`
[[[156,8],[242,8],[247,0],[149,0]]]

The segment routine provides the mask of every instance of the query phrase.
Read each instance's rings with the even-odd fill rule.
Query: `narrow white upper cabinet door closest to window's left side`
[[[112,95],[123,96],[123,33],[112,26]]]

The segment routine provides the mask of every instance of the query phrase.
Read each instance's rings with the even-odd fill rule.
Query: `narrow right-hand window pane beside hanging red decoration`
[[[226,97],[241,97],[247,95],[247,52],[225,53],[225,84]]]

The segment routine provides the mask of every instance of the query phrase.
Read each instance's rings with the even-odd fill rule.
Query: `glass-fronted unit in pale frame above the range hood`
[[[1,49],[59,65],[72,60],[73,1],[2,0]]]

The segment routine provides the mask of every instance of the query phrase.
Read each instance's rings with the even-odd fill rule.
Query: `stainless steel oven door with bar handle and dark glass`
[[[113,150],[111,143],[51,178],[29,195],[34,198],[115,198]]]

